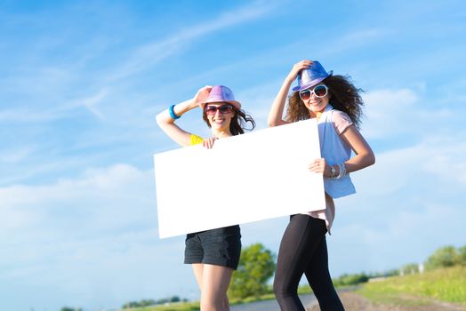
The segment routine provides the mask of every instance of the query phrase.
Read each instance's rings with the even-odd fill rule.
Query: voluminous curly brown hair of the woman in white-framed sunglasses
[[[351,121],[359,128],[364,106],[364,101],[359,93],[364,91],[354,86],[350,81],[350,76],[328,76],[322,83],[328,87],[329,104],[350,116]],[[309,110],[304,106],[299,92],[293,92],[288,98],[286,121],[296,122],[307,120],[309,117]]]

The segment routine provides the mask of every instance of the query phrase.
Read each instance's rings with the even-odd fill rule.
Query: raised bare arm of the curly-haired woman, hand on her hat
[[[312,65],[311,60],[301,60],[299,63],[294,64],[293,68],[291,69],[288,76],[286,76],[280,91],[278,91],[275,100],[272,103],[272,107],[270,108],[268,123],[270,127],[288,124],[283,119],[283,111],[285,109],[285,101],[288,92],[290,91],[290,86],[293,84],[294,79],[298,76],[298,73],[305,68],[309,68]]]

